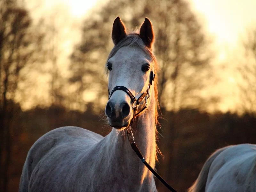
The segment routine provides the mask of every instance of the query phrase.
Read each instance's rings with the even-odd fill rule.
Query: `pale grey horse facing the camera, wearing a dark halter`
[[[138,32],[127,33],[117,17],[112,40],[114,47],[106,62],[108,90],[112,91],[105,108],[111,132],[103,137],[75,126],[47,132],[28,152],[20,192],[156,191],[152,173],[125,136],[131,128],[141,153],[154,168],[159,104],[152,23],[146,18]]]

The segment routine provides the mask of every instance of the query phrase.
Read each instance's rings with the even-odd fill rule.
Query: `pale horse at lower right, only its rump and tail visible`
[[[255,192],[256,145],[239,144],[215,151],[188,192]]]

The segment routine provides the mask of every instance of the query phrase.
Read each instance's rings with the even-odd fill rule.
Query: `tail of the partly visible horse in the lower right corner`
[[[205,185],[208,177],[208,173],[210,170],[210,166],[213,162],[213,160],[222,152],[226,149],[225,148],[220,148],[217,151],[215,151],[204,163],[204,166],[202,170],[200,171],[196,181],[194,184],[188,189],[188,192],[204,192],[205,191]]]

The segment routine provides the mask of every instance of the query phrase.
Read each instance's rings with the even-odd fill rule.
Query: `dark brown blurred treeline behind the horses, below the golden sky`
[[[156,169],[179,191],[185,191],[196,180],[207,157],[217,148],[256,143],[256,118],[232,113],[209,114],[196,109],[163,112],[159,132],[159,147],[164,158],[159,158]],[[21,111],[15,106],[11,130],[12,153],[9,165],[8,191],[18,190],[22,166],[29,148],[44,133],[61,126],[80,126],[106,135],[110,127],[105,117],[92,113],[69,111],[65,108],[34,108]],[[167,191],[157,182],[158,191]]]

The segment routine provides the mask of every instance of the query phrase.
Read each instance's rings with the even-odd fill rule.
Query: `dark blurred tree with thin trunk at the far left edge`
[[[11,161],[14,98],[24,76],[22,69],[37,60],[43,35],[31,28],[28,11],[16,1],[1,1],[0,9],[0,160],[1,187],[7,191],[8,166]]]

